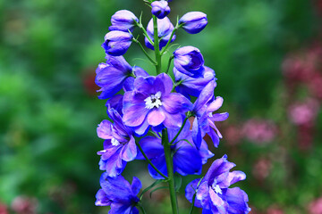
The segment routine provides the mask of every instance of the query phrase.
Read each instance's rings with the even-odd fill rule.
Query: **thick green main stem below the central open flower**
[[[166,169],[168,172],[168,184],[169,184],[169,192],[170,192],[170,200],[171,206],[173,210],[173,214],[178,214],[178,202],[175,194],[175,186],[174,186],[174,162],[171,153],[171,145],[168,142],[168,135],[166,128],[162,130],[162,144],[165,150],[165,162]]]

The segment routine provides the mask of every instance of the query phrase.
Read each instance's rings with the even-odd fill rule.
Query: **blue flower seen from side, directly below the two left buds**
[[[107,99],[119,92],[126,78],[132,73],[131,65],[125,61],[123,56],[106,56],[106,63],[100,63],[97,67],[95,83],[102,92],[99,99]]]

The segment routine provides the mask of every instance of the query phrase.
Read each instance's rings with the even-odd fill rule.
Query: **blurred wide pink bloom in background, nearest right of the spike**
[[[272,121],[250,119],[242,127],[242,135],[255,144],[267,144],[274,140],[277,128]]]

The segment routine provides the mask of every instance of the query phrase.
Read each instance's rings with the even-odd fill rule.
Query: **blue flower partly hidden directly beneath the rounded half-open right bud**
[[[184,95],[188,99],[190,96],[198,97],[202,89],[208,85],[210,81],[216,81],[215,70],[210,69],[207,66],[204,66],[205,71],[203,77],[201,78],[191,78],[182,72],[179,72],[174,67],[174,78],[175,78],[175,90],[176,92]]]

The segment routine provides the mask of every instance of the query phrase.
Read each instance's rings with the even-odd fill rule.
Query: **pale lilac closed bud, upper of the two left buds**
[[[133,31],[135,27],[135,22],[139,22],[139,19],[131,11],[121,10],[115,12],[111,18],[112,26],[109,30],[120,30],[128,32],[129,30]]]

